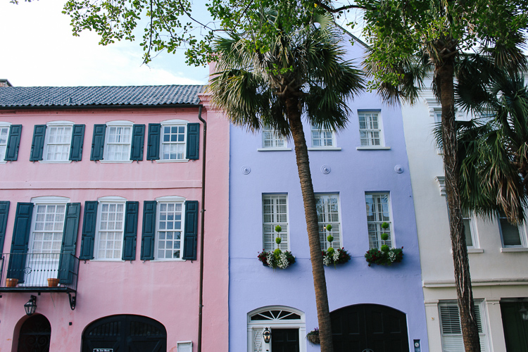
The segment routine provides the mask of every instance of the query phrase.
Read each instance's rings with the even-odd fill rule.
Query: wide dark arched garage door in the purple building
[[[406,315],[378,304],[358,304],[330,313],[335,352],[408,352]]]

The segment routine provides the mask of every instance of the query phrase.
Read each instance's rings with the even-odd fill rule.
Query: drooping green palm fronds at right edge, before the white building
[[[457,121],[462,207],[486,218],[503,212],[524,222],[528,206],[528,87],[524,77],[501,72],[474,94],[459,87],[458,106],[482,118]]]

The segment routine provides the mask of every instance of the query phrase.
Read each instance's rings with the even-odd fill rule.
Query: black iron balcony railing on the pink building
[[[2,253],[0,289],[77,291],[79,258],[71,253]]]

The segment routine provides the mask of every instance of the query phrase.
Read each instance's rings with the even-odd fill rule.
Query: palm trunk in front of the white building
[[[455,267],[455,286],[460,310],[460,325],[466,352],[480,352],[479,330],[474,313],[471,288],[470,261],[463,231],[460,210],[460,162],[457,157],[455,130],[455,98],[453,87],[454,56],[436,67],[436,87],[442,107],[442,144],[444,146],[444,172],[449,211],[449,232]]]

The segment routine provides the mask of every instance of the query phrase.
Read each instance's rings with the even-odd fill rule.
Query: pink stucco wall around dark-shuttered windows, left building
[[[202,351],[227,351],[229,124],[224,119],[208,118],[206,109],[202,117],[208,122]],[[143,262],[139,256],[143,201],[182,196],[199,201],[201,207],[203,124],[200,122],[201,147],[197,161],[146,161],[147,135],[144,161],[112,164],[89,160],[94,124],[129,120],[148,125],[171,119],[200,122],[198,108],[0,111],[0,122],[23,125],[18,161],[0,165],[0,200],[11,201],[4,253],[11,249],[17,202],[30,202],[37,196],[65,196],[71,202],[82,203],[76,251],[79,256],[84,201],[96,201],[102,196],[139,201],[136,260],[81,260],[75,310],[70,310],[67,294],[37,296],[37,313],[51,323],[50,351],[80,351],[84,328],[94,320],[117,314],[144,315],[158,320],[167,329],[168,351],[176,351],[177,341],[189,340],[193,341],[196,351],[199,260]],[[30,162],[34,125],[57,120],[86,125],[82,161]],[[2,294],[0,351],[12,348],[16,351],[18,329],[26,318],[23,304],[29,297],[30,293],[26,292]]]

